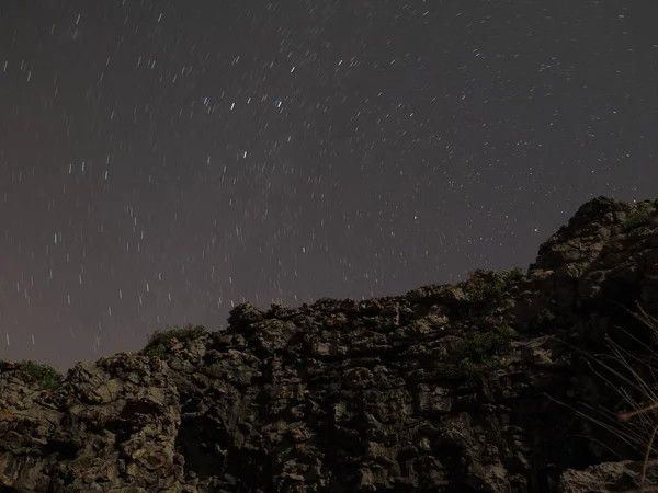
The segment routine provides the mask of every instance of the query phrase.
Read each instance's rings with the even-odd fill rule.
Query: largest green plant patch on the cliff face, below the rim
[[[485,369],[490,357],[506,347],[518,335],[511,326],[500,326],[489,332],[478,332],[462,340],[454,347],[460,367],[467,374]]]

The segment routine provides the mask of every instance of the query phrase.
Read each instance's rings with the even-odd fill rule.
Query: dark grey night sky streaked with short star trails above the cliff
[[[654,0],[2,0],[0,358],[527,267],[658,196]]]

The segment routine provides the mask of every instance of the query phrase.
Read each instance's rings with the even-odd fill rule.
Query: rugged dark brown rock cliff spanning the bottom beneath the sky
[[[654,415],[615,413],[651,387],[587,355],[654,345],[633,313],[658,316],[657,209],[595,198],[526,273],[240,305],[223,333],[156,334],[66,377],[0,362],[0,491],[636,489]]]

